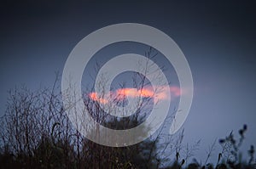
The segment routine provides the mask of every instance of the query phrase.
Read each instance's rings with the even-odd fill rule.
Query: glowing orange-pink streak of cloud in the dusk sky
[[[154,98],[156,100],[168,99],[167,94],[168,90],[171,92],[172,98],[177,98],[182,94],[182,91],[179,87],[175,86],[166,86],[166,87],[144,87],[143,89],[137,88],[119,88],[116,91],[112,91],[107,93],[105,96],[109,98],[109,96],[114,97],[117,100],[123,100],[125,97],[137,98]],[[108,99],[102,99],[98,93],[90,93],[90,99],[97,101],[101,104],[108,104]]]

